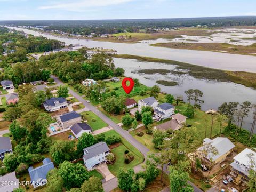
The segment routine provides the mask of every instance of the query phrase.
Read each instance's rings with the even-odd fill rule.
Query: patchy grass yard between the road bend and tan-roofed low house
[[[142,137],[139,137],[136,135],[138,132],[143,132],[144,135]],[[131,131],[130,134],[132,137],[134,137],[137,141],[139,141],[142,145],[146,146],[151,152],[156,153],[156,149],[154,148],[154,143],[152,142],[153,140],[153,135],[146,134],[146,128],[145,126],[140,127],[136,129],[135,131]]]

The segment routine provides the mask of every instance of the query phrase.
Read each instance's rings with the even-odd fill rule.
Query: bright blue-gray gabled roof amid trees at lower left
[[[42,179],[46,179],[47,173],[52,169],[54,169],[54,165],[51,162],[51,159],[45,158],[43,160],[43,165],[36,167],[35,169],[33,169],[33,167],[29,167],[28,172],[31,181],[38,182]]]

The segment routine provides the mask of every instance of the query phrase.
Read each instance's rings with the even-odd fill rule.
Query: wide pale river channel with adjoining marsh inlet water
[[[15,28],[17,29],[17,28]],[[217,53],[209,51],[191,51],[191,50],[176,50],[162,47],[153,47],[148,44],[156,42],[166,42],[166,39],[156,39],[153,41],[143,41],[144,43],[125,44],[111,42],[86,41],[84,39],[63,38],[53,35],[41,34],[37,31],[28,29],[23,30],[26,34],[35,36],[42,35],[50,39],[58,39],[66,44],[81,44],[87,47],[103,47],[106,49],[115,49],[118,54],[133,54],[146,57],[155,57],[161,59],[171,59],[181,62],[193,63],[199,66],[206,66],[218,69],[227,69],[234,71],[251,71],[256,73],[256,57],[247,55],[236,55],[227,53]],[[134,73],[139,69],[169,69],[175,70],[174,65],[155,62],[140,62],[135,59],[119,59],[114,58],[116,67],[125,69],[125,76],[138,78],[142,84],[147,86],[158,85],[161,90],[173,95],[183,95],[186,101],[184,91],[188,89],[199,89],[205,101],[202,105],[202,110],[209,108],[217,109],[223,102],[239,102],[250,101],[256,103],[256,90],[244,85],[235,84],[232,82],[209,81],[207,79],[196,79],[189,75],[173,75],[173,74],[141,74]],[[164,86],[156,83],[157,80],[176,81],[177,86]],[[250,130],[252,123],[252,112],[249,117],[244,119],[243,127]],[[256,133],[256,130],[254,130]]]

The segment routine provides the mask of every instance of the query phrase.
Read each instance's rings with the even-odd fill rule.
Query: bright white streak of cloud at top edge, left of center
[[[84,11],[84,9],[89,8],[89,7],[117,5],[117,4],[122,4],[122,3],[126,3],[126,2],[131,2],[131,1],[134,1],[134,0],[97,0],[97,1],[84,0],[84,1],[75,1],[75,2],[67,1],[66,3],[63,3],[63,1],[60,1],[55,4],[40,6],[39,9],[60,9],[60,10],[67,10],[67,11]]]

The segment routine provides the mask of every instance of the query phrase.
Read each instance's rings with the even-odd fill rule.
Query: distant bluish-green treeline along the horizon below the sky
[[[0,21],[0,25],[47,26],[45,31],[60,30],[67,33],[88,35],[114,34],[126,30],[137,32],[145,28],[173,28],[207,25],[209,27],[252,26],[256,17],[211,17],[211,18],[177,18],[177,19],[124,19],[124,20],[50,20],[50,21]]]

